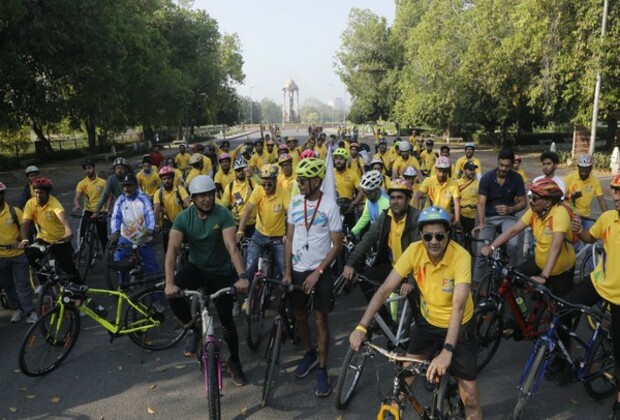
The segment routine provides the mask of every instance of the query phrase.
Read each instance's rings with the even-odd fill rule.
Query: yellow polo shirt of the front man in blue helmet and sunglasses
[[[413,274],[420,289],[420,312],[429,324],[448,328],[452,315],[452,299],[457,284],[471,284],[471,256],[454,241],[448,242],[446,252],[435,265],[428,257],[422,241],[414,242],[398,259],[394,270],[401,277]],[[465,324],[474,314],[471,293],[465,303]]]

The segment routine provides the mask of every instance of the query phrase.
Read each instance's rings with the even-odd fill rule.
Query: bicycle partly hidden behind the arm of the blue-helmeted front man
[[[359,274],[356,276],[355,281],[364,281],[377,287],[380,286],[380,284]],[[406,350],[407,343],[409,342],[409,331],[413,318],[413,311],[409,304],[409,300],[405,296],[397,295],[396,297],[390,297],[385,301],[385,304],[389,305],[392,302],[397,302],[398,304],[402,303],[396,331],[392,331],[387,322],[377,313],[374,316],[372,324],[368,328],[366,341],[371,342],[375,333],[380,332],[387,339],[388,348],[394,349],[400,347]],[[368,356],[368,354],[361,351],[356,352],[350,347],[347,350],[336,382],[336,408],[338,410],[345,409],[351,402],[355,389],[362,377],[362,372]]]

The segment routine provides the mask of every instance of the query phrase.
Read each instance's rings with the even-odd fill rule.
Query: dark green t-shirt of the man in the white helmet
[[[172,229],[183,234],[183,241],[189,244],[189,262],[207,273],[230,275],[231,261],[224,245],[222,230],[235,227],[235,221],[227,208],[219,204],[206,219],[198,217],[196,208],[183,210],[172,224]]]

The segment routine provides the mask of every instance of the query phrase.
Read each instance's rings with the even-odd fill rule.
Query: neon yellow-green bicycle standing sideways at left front
[[[116,299],[116,313],[112,321],[106,318],[106,308],[89,298],[92,295]],[[127,308],[123,317],[125,304]],[[105,328],[110,334],[110,341],[128,335],[131,341],[147,350],[170,348],[186,332],[170,311],[163,279],[132,296],[123,291],[92,289],[69,283],[61,286],[54,307],[30,327],[22,341],[19,367],[25,375],[42,376],[60,366],[79,337],[80,312]]]

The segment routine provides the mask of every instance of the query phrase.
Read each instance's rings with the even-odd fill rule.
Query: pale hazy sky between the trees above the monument
[[[299,86],[300,104],[310,97],[327,103],[345,95],[333,63],[354,7],[384,16],[390,25],[394,21],[394,0],[194,1],[195,9],[218,22],[221,33],[239,35],[246,75],[239,94],[278,104],[288,79]],[[350,105],[348,93],[344,97]]]

